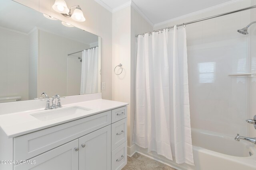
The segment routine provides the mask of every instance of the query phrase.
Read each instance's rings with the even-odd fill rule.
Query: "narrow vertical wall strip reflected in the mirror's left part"
[[[37,98],[38,81],[38,29],[35,28],[28,34],[29,37],[29,100]]]

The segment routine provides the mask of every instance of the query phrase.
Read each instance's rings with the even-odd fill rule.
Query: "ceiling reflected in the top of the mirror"
[[[42,13],[11,0],[0,0],[0,27],[24,34],[37,27],[88,45],[98,41],[97,35],[76,27],[66,27],[59,20],[49,20]]]

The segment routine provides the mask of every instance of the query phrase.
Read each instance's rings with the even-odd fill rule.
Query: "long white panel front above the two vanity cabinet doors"
[[[14,159],[27,160],[111,124],[106,111],[14,138]]]

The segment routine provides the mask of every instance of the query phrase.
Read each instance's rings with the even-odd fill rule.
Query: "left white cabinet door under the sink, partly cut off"
[[[30,159],[31,164],[19,164],[15,170],[78,170],[78,139]],[[33,161],[34,164],[33,164]]]

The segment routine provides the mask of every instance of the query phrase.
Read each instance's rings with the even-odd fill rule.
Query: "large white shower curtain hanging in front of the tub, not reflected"
[[[138,36],[133,142],[194,165],[183,26]]]

